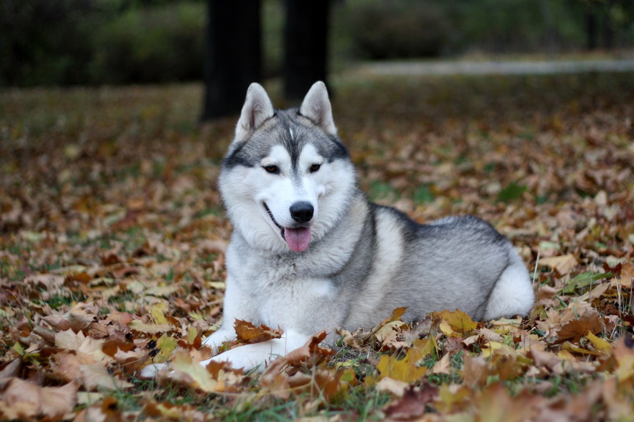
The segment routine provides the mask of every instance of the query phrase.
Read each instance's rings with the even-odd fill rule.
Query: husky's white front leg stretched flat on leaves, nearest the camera
[[[281,338],[274,338],[262,343],[249,344],[242,347],[232,348],[217,356],[202,361],[202,366],[207,366],[210,361],[230,362],[233,368],[244,368],[245,371],[257,368],[264,370],[264,364],[273,361],[278,356],[283,356],[302,347],[311,335],[298,333],[297,331],[286,331]]]

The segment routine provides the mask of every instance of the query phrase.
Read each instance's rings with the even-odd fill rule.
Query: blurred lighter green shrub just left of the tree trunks
[[[96,83],[157,83],[202,78],[205,3],[129,8],[94,35]]]

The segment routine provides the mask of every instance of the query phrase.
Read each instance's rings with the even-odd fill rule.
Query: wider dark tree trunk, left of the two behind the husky
[[[239,113],[262,77],[259,0],[209,0],[202,120]]]

